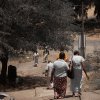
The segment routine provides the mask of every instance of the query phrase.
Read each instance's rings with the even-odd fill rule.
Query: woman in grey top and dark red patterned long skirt
[[[67,88],[68,64],[64,61],[65,53],[59,54],[59,59],[53,64],[51,82],[54,82],[54,99],[64,98]]]

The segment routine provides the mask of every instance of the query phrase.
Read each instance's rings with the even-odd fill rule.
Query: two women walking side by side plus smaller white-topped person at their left
[[[89,79],[86,71],[84,61],[85,59],[80,56],[79,51],[74,51],[74,54],[66,62],[65,53],[60,52],[59,58],[52,64],[47,64],[46,70],[49,72],[50,84],[53,83],[54,99],[64,98],[67,89],[67,76],[68,71],[73,69],[74,77],[71,78],[71,91],[72,96],[80,96],[82,88],[82,71],[85,72],[86,77]],[[69,66],[71,64],[71,66]],[[50,65],[50,66],[49,66]],[[73,66],[73,67],[72,67]],[[49,85],[50,86],[50,85]],[[49,88],[49,87],[48,87]]]

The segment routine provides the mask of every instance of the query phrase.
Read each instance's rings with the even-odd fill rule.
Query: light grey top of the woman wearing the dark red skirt
[[[65,77],[67,76],[67,70],[69,69],[68,64],[62,60],[58,59],[53,64],[54,77]]]

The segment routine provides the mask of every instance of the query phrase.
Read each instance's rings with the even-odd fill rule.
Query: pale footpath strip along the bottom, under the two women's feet
[[[30,90],[7,92],[14,100],[53,100],[53,90],[46,87],[37,87]],[[81,97],[72,97],[68,90],[66,97],[60,100],[100,100],[100,90],[94,92],[82,92]]]

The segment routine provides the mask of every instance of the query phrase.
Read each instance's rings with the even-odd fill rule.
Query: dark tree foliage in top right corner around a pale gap
[[[82,1],[84,3],[84,26],[85,26],[85,31],[89,31],[94,28],[100,28],[100,21],[99,21],[99,10],[100,10],[100,1],[99,0],[71,0],[73,2],[73,6],[75,6],[75,12],[76,12],[76,18],[77,16],[82,16]],[[95,14],[97,14],[96,19],[87,19],[87,7],[92,7],[92,4],[96,6],[95,9]],[[81,21],[76,21],[76,24],[81,24]]]

